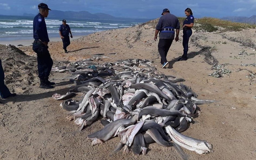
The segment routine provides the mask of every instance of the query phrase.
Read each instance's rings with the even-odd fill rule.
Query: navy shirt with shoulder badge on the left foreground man
[[[40,13],[38,13],[33,20],[33,37],[34,39],[39,39],[42,42],[50,42],[45,18]]]

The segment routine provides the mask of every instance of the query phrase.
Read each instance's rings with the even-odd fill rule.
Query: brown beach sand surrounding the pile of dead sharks
[[[182,55],[182,32],[180,40],[173,42],[167,60],[170,65],[161,69],[154,28],[144,24],[131,28],[108,30],[81,37],[71,42],[69,53],[64,53],[62,42],[50,42],[49,51],[55,61],[76,61],[90,58],[96,53],[105,53],[109,58],[100,62],[115,62],[119,59],[152,59],[160,73],[183,78],[200,99],[216,100],[215,103],[199,105],[201,114],[183,134],[203,139],[213,144],[213,152],[198,155],[184,150],[189,159],[256,159],[256,78],[255,66],[241,66],[256,62],[256,52],[238,42],[223,39],[248,33],[255,37],[253,29],[241,32],[206,33],[193,32],[198,37],[189,43],[188,60],[178,62]],[[194,44],[194,45],[193,45]],[[197,45],[196,45],[197,44]],[[218,64],[226,64],[231,73],[222,78],[208,76],[213,73],[202,54],[201,46],[216,47],[212,55]],[[67,73],[51,73],[50,80],[57,85],[53,89],[40,89],[36,71],[36,57],[31,46],[19,47],[29,56],[17,50],[1,46],[0,57],[5,68],[6,85],[18,94],[1,100],[0,104],[0,158],[1,159],[181,159],[173,148],[157,144],[147,146],[146,156],[134,156],[119,151],[109,157],[119,138],[104,144],[91,146],[86,136],[103,126],[100,119],[74,134],[79,127],[65,119],[67,113],[52,98],[54,93],[65,94],[73,84],[61,80]],[[6,54],[8,53],[8,54]],[[109,55],[117,53],[117,55]],[[243,53],[242,55],[239,53]],[[245,54],[247,53],[247,54]],[[6,56],[5,56],[6,55]],[[12,58],[10,58],[12,57]],[[81,96],[81,95],[78,95]],[[80,98],[75,98],[79,100]]]

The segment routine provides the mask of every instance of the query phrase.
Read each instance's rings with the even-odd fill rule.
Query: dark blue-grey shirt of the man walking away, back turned
[[[156,25],[156,29],[160,31],[159,39],[174,39],[175,33],[166,33],[162,32],[163,28],[173,27],[174,29],[180,29],[180,22],[178,18],[170,13],[166,13],[165,15],[159,18],[159,21]]]

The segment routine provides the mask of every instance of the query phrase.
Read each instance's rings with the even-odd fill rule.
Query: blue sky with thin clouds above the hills
[[[185,16],[184,10],[191,8],[195,18],[256,15],[256,0],[0,0],[0,15],[36,14],[41,2],[52,10],[88,11],[125,18],[158,18],[164,8],[176,16]]]

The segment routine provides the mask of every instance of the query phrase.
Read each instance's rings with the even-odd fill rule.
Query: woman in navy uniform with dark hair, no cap
[[[188,40],[190,36],[192,35],[192,27],[194,26],[194,17],[193,13],[190,8],[185,9],[185,15],[187,18],[183,22],[183,55],[178,61],[180,60],[187,60],[187,54],[188,54]]]

